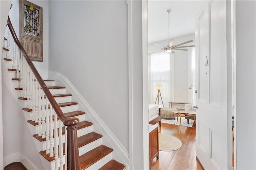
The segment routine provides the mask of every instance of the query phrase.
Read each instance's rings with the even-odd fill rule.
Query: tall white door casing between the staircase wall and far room
[[[147,61],[147,53],[143,55],[143,17],[144,8],[143,0],[126,0],[128,4],[128,82],[129,82],[129,164],[130,169],[148,169],[148,138],[144,135],[148,133],[148,126],[145,128],[146,103],[144,103],[144,69],[143,63]],[[146,13],[147,14],[147,13]],[[145,25],[144,25],[145,26]],[[143,40],[144,41],[143,41]],[[147,42],[146,42],[147,43]],[[147,88],[146,88],[147,89]],[[146,95],[146,100],[148,95]],[[148,111],[146,111],[148,112]],[[146,134],[148,135],[148,134]]]

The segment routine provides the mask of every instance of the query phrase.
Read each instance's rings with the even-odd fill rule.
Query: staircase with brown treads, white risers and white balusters
[[[8,36],[9,38],[10,36]],[[69,158],[65,160],[66,150],[72,144],[68,143],[70,140],[65,135],[67,130],[63,122],[60,121],[61,117],[56,115],[53,109],[54,106],[46,97],[46,93],[39,85],[34,72],[26,66],[27,59],[19,55],[16,57],[15,48],[13,59],[7,58],[6,54],[9,53],[8,42],[6,47],[4,46],[2,49],[3,64],[5,65],[3,68],[13,65],[11,68],[7,68],[4,74],[10,74],[13,77],[10,81],[16,82],[17,87],[13,91],[19,92],[18,100],[23,105],[22,110],[32,133],[31,135],[36,139],[38,154],[45,159],[43,163],[45,169],[65,169],[65,162],[69,161]],[[15,59],[17,60],[16,62]],[[68,89],[56,84],[54,80],[45,79],[44,83],[65,117],[79,119],[79,123],[72,125],[72,127],[76,126],[77,134],[75,131],[74,143],[76,144],[77,141],[79,150],[79,158],[73,159],[78,159],[77,162],[80,162],[80,169],[125,169],[124,164],[113,159],[113,149],[103,144],[102,139],[104,136],[94,132],[94,123],[86,121],[86,113],[83,110],[79,110],[82,107],[78,107],[79,103],[73,101],[72,94],[68,93]]]

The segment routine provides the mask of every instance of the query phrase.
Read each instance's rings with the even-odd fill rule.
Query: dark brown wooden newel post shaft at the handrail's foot
[[[76,125],[67,127],[67,170],[80,170]]]

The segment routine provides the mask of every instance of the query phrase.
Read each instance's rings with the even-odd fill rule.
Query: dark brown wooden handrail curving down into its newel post
[[[54,97],[50,93],[48,87],[44,83],[42,77],[38,73],[36,67],[28,57],[25,49],[21,45],[20,41],[18,40],[18,37],[14,31],[14,28],[12,26],[12,23],[10,21],[10,17],[8,17],[8,22],[7,25],[10,29],[10,32],[12,34],[12,37],[14,39],[14,42],[16,45],[19,47],[20,51],[22,52],[23,56],[25,57],[30,69],[34,73],[34,76],[38,80],[38,83],[42,87],[42,90],[44,91],[46,97],[48,98],[50,104],[52,105],[54,111],[58,115],[60,121],[63,122],[63,124],[67,127],[67,162],[66,166],[67,169],[72,169],[72,170],[80,170],[80,160],[79,160],[79,152],[78,152],[78,140],[77,140],[77,128],[76,125],[79,123],[79,119],[74,117],[74,118],[69,118],[64,115],[62,110],[60,109],[58,103],[55,101]]]

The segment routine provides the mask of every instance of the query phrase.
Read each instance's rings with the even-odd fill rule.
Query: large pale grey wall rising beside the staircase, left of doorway
[[[49,69],[72,82],[129,150],[126,1],[50,1],[49,16]]]

